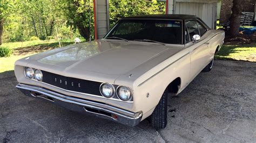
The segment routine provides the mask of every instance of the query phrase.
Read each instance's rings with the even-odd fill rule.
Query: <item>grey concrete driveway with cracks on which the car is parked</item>
[[[3,142],[256,142],[256,63],[215,61],[177,97],[170,97],[168,125],[147,120],[128,127],[29,98],[11,73],[0,75]]]

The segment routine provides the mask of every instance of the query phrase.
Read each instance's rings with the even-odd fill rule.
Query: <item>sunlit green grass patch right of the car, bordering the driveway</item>
[[[256,62],[256,44],[223,45],[215,59]]]

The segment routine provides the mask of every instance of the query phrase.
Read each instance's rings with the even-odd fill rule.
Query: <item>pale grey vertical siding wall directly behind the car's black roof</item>
[[[217,17],[217,3],[176,2],[174,14],[196,15],[209,27],[215,28]],[[169,4],[170,14],[173,13],[173,3]]]

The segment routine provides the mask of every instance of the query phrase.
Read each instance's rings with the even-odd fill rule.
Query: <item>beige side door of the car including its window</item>
[[[208,64],[209,48],[206,39],[207,29],[197,22],[197,20],[186,21],[185,40],[186,47],[190,52],[190,77],[191,80],[196,77],[201,70]],[[196,42],[192,40],[193,35],[200,35]]]

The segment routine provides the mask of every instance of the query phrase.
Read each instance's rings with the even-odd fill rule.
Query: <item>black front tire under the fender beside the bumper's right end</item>
[[[151,115],[151,125],[156,130],[164,129],[167,125],[167,103],[168,103],[168,92],[165,90],[159,103],[154,109]]]

